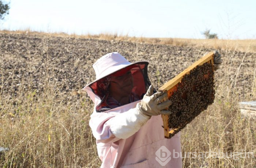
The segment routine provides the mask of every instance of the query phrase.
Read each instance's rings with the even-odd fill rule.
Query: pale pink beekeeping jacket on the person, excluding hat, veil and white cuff
[[[93,100],[95,106],[100,102],[90,87],[84,88]],[[113,135],[110,129],[111,118],[116,115],[136,110],[136,104],[141,100],[126,104],[105,112],[94,112],[89,125],[96,138],[97,151],[102,161],[101,168],[158,168],[162,167],[155,152],[165,146],[172,154],[171,160],[164,167],[182,167],[181,157],[173,158],[173,150],[181,153],[180,133],[170,139],[164,138],[161,115],[152,116],[138,132],[127,139]]]

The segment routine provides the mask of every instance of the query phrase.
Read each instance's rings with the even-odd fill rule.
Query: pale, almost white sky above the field
[[[3,0],[0,29],[136,37],[256,39],[255,0]]]

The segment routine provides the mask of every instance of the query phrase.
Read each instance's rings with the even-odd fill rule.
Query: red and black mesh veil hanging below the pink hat
[[[147,92],[148,87],[151,85],[150,80],[148,78],[148,73],[147,73],[147,66],[148,63],[147,62],[142,62],[142,63],[138,63],[138,64],[133,64],[128,70],[131,70],[132,73],[132,77],[133,77],[133,88],[132,88],[132,99],[131,102],[135,102],[138,100],[141,100],[144,96],[144,94]],[[126,68],[126,69],[127,69]],[[127,70],[120,69],[119,70],[121,73],[125,73]],[[115,72],[116,74],[120,75],[120,72]],[[114,73],[113,73],[114,74]],[[108,91],[108,86],[109,86],[109,78],[110,78],[111,74],[107,77],[104,77],[100,80],[98,80],[97,82],[89,85],[89,87],[93,90],[93,92],[99,96],[99,98],[101,99],[101,103],[99,103],[96,106],[96,111],[97,112],[103,112],[103,111],[107,111],[110,110],[112,108],[116,108],[116,107],[120,107],[122,105],[118,104],[116,102],[116,104],[110,104],[108,102],[108,95],[109,95],[109,91]]]

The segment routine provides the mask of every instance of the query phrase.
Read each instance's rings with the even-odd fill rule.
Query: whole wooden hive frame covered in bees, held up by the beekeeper
[[[200,79],[197,79],[197,77],[200,77]],[[191,82],[189,82],[189,80],[191,80]],[[210,85],[211,87],[208,88]],[[207,88],[205,89],[206,91],[203,91],[204,88]],[[185,90],[185,92],[181,94],[183,90]],[[172,111],[172,114],[162,115],[164,136],[165,138],[171,138],[199,115],[200,112],[205,110],[209,104],[213,103],[215,94],[214,52],[206,54],[206,56],[203,56],[187,69],[183,70],[172,80],[160,87],[159,91],[166,92],[168,95],[166,99],[172,100],[172,105],[168,108]],[[197,92],[199,95],[196,95]],[[193,99],[193,97],[195,97],[195,99]],[[193,101],[199,103],[193,103]],[[203,104],[203,107],[197,104]],[[196,107],[190,111],[189,108],[191,107],[189,106]],[[198,110],[196,110],[196,108],[198,108]],[[175,123],[175,126],[173,123]]]

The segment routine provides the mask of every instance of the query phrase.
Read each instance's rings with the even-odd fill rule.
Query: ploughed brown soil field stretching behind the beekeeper
[[[75,101],[72,94],[75,92],[80,96],[80,90],[95,79],[92,64],[106,53],[118,51],[131,62],[149,61],[149,78],[158,89],[206,51],[214,50],[5,33],[0,34],[0,46],[0,91],[8,93],[2,94],[8,95],[4,99],[14,100],[15,96],[24,94],[20,90],[41,94],[48,84],[54,84],[60,94],[67,96],[65,101]],[[228,77],[230,83],[225,86],[235,88],[232,92],[237,91],[241,96],[251,94],[252,83],[255,82],[255,53],[223,50],[219,53],[223,64],[215,74],[215,85],[223,85],[219,79]]]

